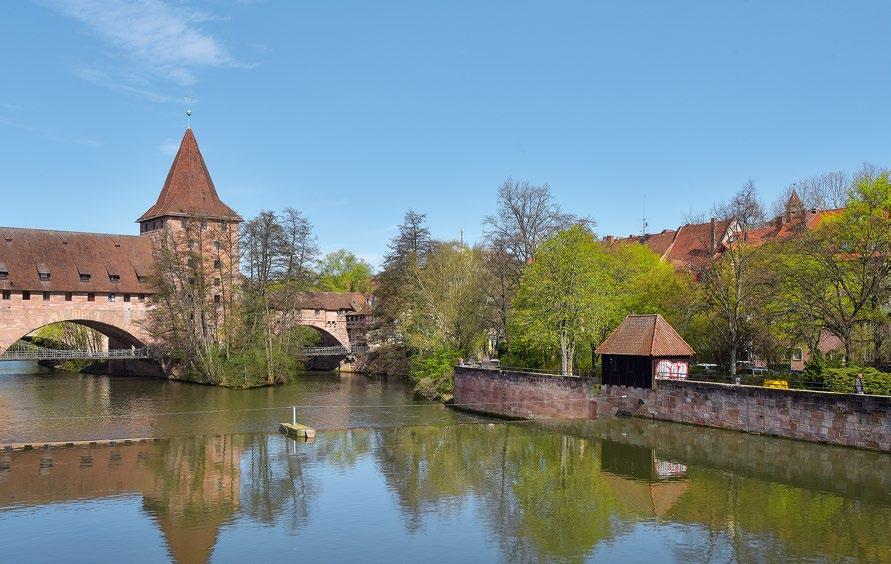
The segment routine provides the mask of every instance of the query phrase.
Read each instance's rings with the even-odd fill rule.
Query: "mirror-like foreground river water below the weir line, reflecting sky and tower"
[[[120,558],[127,549],[140,560],[180,562],[891,556],[886,455],[755,437],[738,448],[738,435],[720,432],[700,448],[696,428],[638,420],[552,426],[329,431],[311,444],[241,434],[2,453],[0,538],[17,542],[0,560]],[[805,459],[820,463],[788,467]],[[134,499],[138,511],[125,513]],[[65,504],[89,509],[94,537],[50,518]],[[114,526],[127,548],[112,554],[102,539]]]

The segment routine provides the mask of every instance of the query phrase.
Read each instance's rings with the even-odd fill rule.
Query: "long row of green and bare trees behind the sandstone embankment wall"
[[[458,359],[590,372],[594,349],[626,315],[660,313],[701,361],[731,375],[756,355],[788,367],[794,349],[816,351],[835,336],[847,368],[823,381],[849,387],[852,367],[888,356],[889,177],[866,168],[851,181],[833,173],[801,187],[808,205],[843,209],[794,236],[764,238],[765,207],[749,181],[710,211],[727,238],[703,230],[709,251],[686,268],[636,242],[598,239],[594,222],[564,212],[547,185],[505,182],[472,247],[434,240],[425,215],[409,211],[376,279],[371,340],[380,348],[368,366],[411,374],[424,394],[447,398]],[[869,374],[870,387],[884,389],[873,382],[885,377]]]

